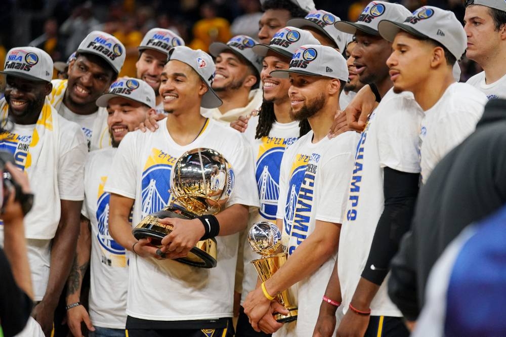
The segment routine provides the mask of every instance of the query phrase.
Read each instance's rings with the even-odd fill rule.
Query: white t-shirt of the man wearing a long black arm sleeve
[[[350,305],[384,209],[383,171],[419,173],[418,134],[423,116],[411,93],[394,94],[392,89],[369,116],[355,155],[348,185],[346,217],[341,227],[338,275],[343,313]],[[387,279],[371,302],[371,315],[401,317],[387,294]]]

